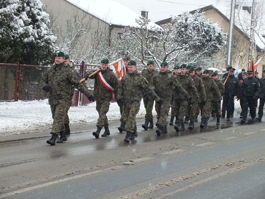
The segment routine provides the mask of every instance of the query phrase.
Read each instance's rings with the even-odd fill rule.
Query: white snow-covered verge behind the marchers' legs
[[[239,101],[235,101],[235,108],[240,108]],[[142,101],[136,118],[144,118],[145,113]],[[153,109],[153,115],[156,115],[155,109]],[[70,126],[96,123],[98,118],[96,103],[71,107],[68,111],[68,116],[70,118]],[[110,103],[107,117],[109,121],[120,119],[117,103]],[[48,99],[30,102],[0,102],[0,120],[0,136],[49,130],[53,122]]]

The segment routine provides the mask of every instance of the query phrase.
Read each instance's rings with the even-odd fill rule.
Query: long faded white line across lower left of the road
[[[47,182],[47,183],[39,184],[39,185],[36,185],[36,186],[33,186],[33,187],[28,187],[28,188],[20,189],[20,190],[9,192],[9,193],[4,193],[4,194],[0,195],[0,198],[9,197],[9,196],[12,196],[12,195],[15,195],[15,194],[23,193],[23,192],[26,192],[26,191],[31,191],[33,189],[39,189],[39,188],[46,187],[46,186],[49,186],[49,185],[53,185],[53,184],[56,184],[56,183],[65,182],[65,181],[76,179],[76,178],[82,178],[84,176],[88,176],[88,175],[92,175],[92,174],[96,174],[96,173],[101,173],[101,172],[108,171],[108,170],[115,170],[117,168],[121,168],[121,166],[111,167],[111,168],[107,168],[107,169],[101,169],[99,171],[94,171],[94,172],[90,172],[90,173],[84,173],[84,174],[72,176],[72,177],[69,177],[69,178],[63,178],[63,179],[60,179],[60,180],[55,180],[53,182]]]

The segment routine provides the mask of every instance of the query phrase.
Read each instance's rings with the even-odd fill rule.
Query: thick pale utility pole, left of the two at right
[[[228,48],[226,64],[232,66],[233,58],[233,38],[234,38],[234,24],[235,24],[235,0],[231,1],[231,12],[230,12],[230,26],[229,26],[229,37],[228,37]]]

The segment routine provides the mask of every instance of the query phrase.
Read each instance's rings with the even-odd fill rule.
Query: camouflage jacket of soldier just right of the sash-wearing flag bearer
[[[150,88],[148,81],[138,71],[126,73],[120,81],[117,99],[123,99],[128,102],[140,102],[142,100],[143,91],[156,101],[160,98]]]

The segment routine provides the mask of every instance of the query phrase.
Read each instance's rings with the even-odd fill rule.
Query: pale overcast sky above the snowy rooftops
[[[171,15],[179,15],[184,11],[192,11],[198,8],[218,5],[220,11],[226,12],[225,4],[229,0],[115,0],[129,9],[141,14],[141,11],[148,11],[148,18],[153,21],[160,21],[170,18]]]

